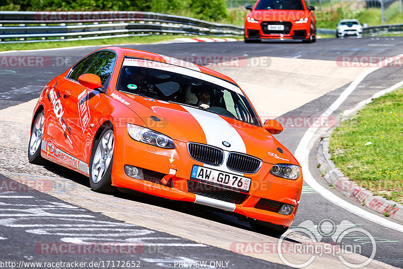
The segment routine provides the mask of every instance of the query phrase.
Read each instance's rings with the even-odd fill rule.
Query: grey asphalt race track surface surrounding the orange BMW
[[[245,66],[228,67],[217,64],[212,69],[228,74],[243,88],[243,84],[245,84],[244,89],[248,95],[248,91],[256,99],[261,95],[262,99],[267,101],[267,105],[263,103],[257,106],[258,112],[264,111],[264,114],[259,112],[261,117],[312,118],[320,116],[326,111],[350,85],[351,81],[367,68],[367,66],[339,66],[340,70],[322,75],[325,70],[320,70],[318,66],[337,68],[336,61],[340,61],[343,57],[379,56],[379,59],[383,60],[385,57],[399,55],[402,53],[403,38],[318,39],[313,44],[200,42],[127,45],[125,47],[176,57],[219,56],[228,59],[226,56],[237,56],[246,59],[248,64],[253,62],[252,59],[260,59],[260,61],[256,61],[257,65],[260,64],[259,66],[250,67],[246,64]],[[279,259],[277,253],[261,255],[261,253],[240,254],[230,251],[233,250],[231,243],[235,242],[276,243],[278,241],[278,238],[252,232],[249,224],[238,220],[236,216],[202,206],[167,201],[152,196],[133,196],[123,193],[111,196],[94,193],[90,190],[88,179],[84,176],[58,166],[43,168],[28,163],[26,157],[27,133],[29,135],[32,103],[34,105],[35,102],[26,102],[37,98],[48,81],[96,48],[0,53],[2,58],[37,56],[45,59],[43,67],[35,64],[33,66],[21,66],[23,64],[7,66],[7,63],[0,66],[0,141],[3,144],[0,154],[2,163],[0,180],[2,182],[15,182],[14,180],[27,182],[27,180],[37,179],[46,180],[53,186],[58,186],[42,192],[34,189],[0,191],[0,260],[16,262],[17,265],[20,261],[79,261],[87,262],[86,266],[91,261],[109,261],[108,264],[98,264],[93,266],[94,268],[124,268],[122,264],[117,265],[117,261],[133,261],[132,267],[138,262],[143,268],[194,268],[197,267],[195,261],[207,261],[210,268],[288,267]],[[269,59],[268,62],[263,62],[263,58]],[[271,63],[278,64],[282,60],[287,62],[288,71],[284,66],[281,71],[276,71],[273,65],[271,67]],[[295,66],[295,69],[292,66]],[[256,73],[255,71],[248,73],[249,67],[256,68]],[[342,74],[346,70],[353,74],[351,78],[345,78],[346,76]],[[365,77],[330,116],[337,118],[342,111],[353,108],[360,101],[368,99],[374,93],[402,80],[403,65],[380,68]],[[280,85],[276,87],[283,88],[278,89],[273,86],[273,94],[272,92],[268,94],[269,92],[266,92],[264,88],[258,88],[265,87],[264,85],[270,88],[272,81]],[[295,81],[296,84],[293,84]],[[302,89],[303,86],[300,89],[298,83],[305,85],[305,90]],[[325,84],[332,85],[333,88],[324,89]],[[288,85],[297,86],[288,88]],[[296,100],[297,98],[291,98],[290,95],[284,95],[285,91],[290,91],[291,97],[293,94],[303,92],[306,98]],[[254,98],[251,98],[252,102]],[[24,104],[27,105],[24,106]],[[288,104],[291,109],[287,109]],[[19,105],[18,109],[13,110],[16,105]],[[273,107],[276,105],[281,105],[284,113],[279,114],[274,111]],[[14,114],[9,115],[8,111],[14,111]],[[276,138],[291,152],[295,152],[307,129],[308,126],[289,126],[289,128],[285,126],[285,131]],[[316,141],[315,145],[317,143]],[[309,154],[310,172],[320,184],[335,195],[348,200],[352,205],[361,207],[337,190],[329,188],[321,179],[320,172],[316,169],[315,146],[307,154]],[[353,226],[368,231],[375,239],[376,254],[374,261],[368,265],[369,267],[403,267],[402,232],[391,229],[387,225],[374,223],[333,204],[307,184],[304,185],[302,192],[301,204],[293,227],[304,223],[303,227],[313,232],[316,229],[315,225],[323,223],[323,220],[326,219],[336,225],[342,221],[345,221],[343,223],[348,221]],[[365,207],[361,208],[371,214],[382,216]],[[311,221],[313,226],[308,225],[306,221]],[[388,221],[403,225],[393,219],[388,219]],[[298,238],[289,238],[289,241],[301,242]],[[132,243],[134,251],[106,255],[83,254],[80,251],[56,254],[46,252],[52,244],[80,242]],[[330,236],[324,236],[321,242],[334,243],[334,240]],[[346,243],[361,244],[363,258],[371,255],[371,248],[368,247],[370,241],[365,236],[348,237]],[[112,261],[115,263],[112,264]],[[182,266],[179,261],[182,262]],[[192,265],[184,266],[183,262]],[[310,266],[315,268],[347,267],[337,257],[325,255],[316,257],[315,262]],[[28,265],[23,267],[30,268]]]

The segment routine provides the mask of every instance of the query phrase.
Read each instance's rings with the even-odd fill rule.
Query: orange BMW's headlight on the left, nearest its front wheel
[[[165,134],[130,123],[126,123],[126,127],[129,136],[136,141],[164,149],[175,149],[173,140]]]

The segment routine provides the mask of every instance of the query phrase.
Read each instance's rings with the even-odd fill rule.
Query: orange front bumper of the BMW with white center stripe
[[[175,141],[176,149],[160,149],[133,141],[126,130],[121,130],[121,133],[115,135],[115,145],[124,145],[121,149],[115,148],[113,157],[112,184],[116,187],[211,206],[287,227],[291,226],[295,219],[302,189],[302,173],[297,180],[278,178],[268,173],[273,165],[263,163],[257,173],[244,175],[252,180],[249,193],[245,194],[245,198],[237,204],[236,202],[229,203],[225,199],[221,199],[217,193],[197,192],[190,187],[192,182],[200,184],[189,180],[193,164],[199,166],[204,164],[190,157],[186,143]],[[171,158],[174,159],[172,163]],[[142,168],[145,171],[144,179],[129,177],[124,172],[124,165]],[[161,178],[164,176],[167,179],[166,184],[161,183]],[[221,190],[218,188],[212,191]],[[236,194],[238,195],[239,192]],[[255,208],[261,198],[270,199],[273,203],[289,204],[295,208],[288,216],[267,209]]]

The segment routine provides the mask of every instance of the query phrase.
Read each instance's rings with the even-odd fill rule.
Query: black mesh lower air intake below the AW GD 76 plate
[[[192,180],[187,180],[187,191],[201,196],[226,201],[228,203],[234,203],[236,205],[242,204],[248,196],[245,193],[226,190],[217,186],[211,186]]]

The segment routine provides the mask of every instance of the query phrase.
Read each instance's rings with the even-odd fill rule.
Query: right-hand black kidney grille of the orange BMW
[[[233,153],[228,155],[227,166],[233,171],[254,174],[259,170],[261,161],[245,154]]]

